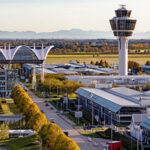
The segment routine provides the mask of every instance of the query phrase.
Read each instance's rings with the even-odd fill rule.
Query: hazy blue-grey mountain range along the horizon
[[[80,29],[60,30],[56,32],[0,31],[0,39],[114,39],[112,31],[84,31]],[[134,39],[150,39],[150,32],[135,33]]]

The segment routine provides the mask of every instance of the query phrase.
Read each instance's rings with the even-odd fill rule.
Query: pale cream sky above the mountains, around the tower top
[[[120,4],[132,9],[135,32],[150,31],[150,0],[0,0],[1,31],[111,31]]]

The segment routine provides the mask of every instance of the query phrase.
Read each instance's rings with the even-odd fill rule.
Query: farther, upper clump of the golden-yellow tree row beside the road
[[[16,86],[13,89],[11,97],[14,99],[22,115],[25,116],[29,128],[38,132],[40,127],[47,123],[46,116],[40,112],[38,106],[33,103],[32,99],[21,86]]]

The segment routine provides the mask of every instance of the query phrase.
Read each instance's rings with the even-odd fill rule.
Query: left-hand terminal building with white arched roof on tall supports
[[[44,78],[44,61],[53,46],[36,49],[29,46],[20,45],[15,48],[8,49],[6,45],[0,49],[0,97],[9,97],[17,78],[17,70],[13,69],[12,64],[20,64],[23,66],[25,63],[31,63],[33,66],[36,64],[41,65],[42,79]],[[35,70],[35,69],[34,69]],[[33,76],[35,76],[33,71]]]

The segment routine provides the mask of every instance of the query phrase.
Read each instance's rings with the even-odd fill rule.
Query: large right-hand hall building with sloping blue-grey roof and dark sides
[[[112,89],[79,88],[76,90],[80,105],[98,116],[101,124],[128,125],[132,114],[144,114],[150,106],[150,96],[126,87]],[[146,99],[144,98],[146,97]]]

